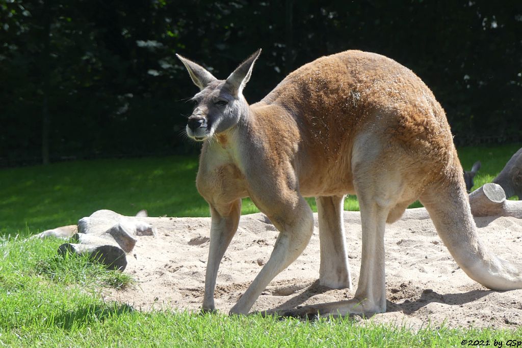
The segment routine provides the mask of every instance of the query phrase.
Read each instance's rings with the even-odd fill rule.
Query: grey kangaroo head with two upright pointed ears
[[[226,80],[216,79],[205,68],[176,54],[200,90],[192,98],[196,105],[185,128],[190,138],[204,141],[232,128],[248,114],[248,103],[242,91],[260,53],[261,49],[241,63]]]

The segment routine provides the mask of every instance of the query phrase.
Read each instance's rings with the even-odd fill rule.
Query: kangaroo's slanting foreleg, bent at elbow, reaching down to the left
[[[297,205],[287,214],[278,216],[279,218],[269,216],[270,220],[281,231],[274,245],[274,250],[250,287],[241,296],[238,303],[230,309],[231,314],[247,314],[266,285],[294,262],[310,241],[314,219],[312,210],[303,197],[299,197]]]

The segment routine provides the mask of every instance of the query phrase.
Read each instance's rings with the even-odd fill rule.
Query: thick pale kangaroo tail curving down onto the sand
[[[479,240],[458,170],[426,188],[420,200],[449,253],[471,279],[492,290],[522,289],[522,264],[496,257]]]

